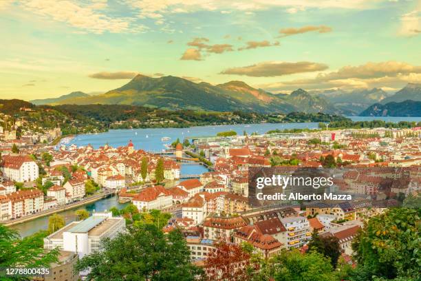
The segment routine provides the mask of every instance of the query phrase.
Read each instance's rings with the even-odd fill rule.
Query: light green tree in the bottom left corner
[[[41,231],[21,239],[16,230],[0,224],[0,268],[50,267],[57,261],[58,249],[45,252],[43,238],[46,235]]]

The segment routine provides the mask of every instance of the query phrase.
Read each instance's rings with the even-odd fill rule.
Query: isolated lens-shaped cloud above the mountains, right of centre
[[[284,61],[266,61],[255,65],[244,67],[233,67],[222,71],[220,74],[246,75],[253,77],[274,77],[288,74],[315,72],[327,70],[327,65],[323,63],[312,63],[308,61],[299,61],[297,63],[288,63]]]

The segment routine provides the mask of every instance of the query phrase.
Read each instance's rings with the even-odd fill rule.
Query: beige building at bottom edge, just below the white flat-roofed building
[[[45,275],[44,281],[77,281],[79,274],[74,271],[78,255],[72,251],[61,250],[58,261],[50,264],[50,274]]]

